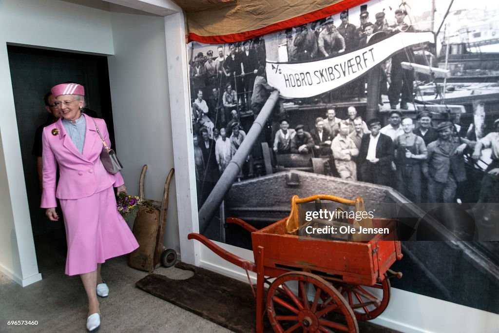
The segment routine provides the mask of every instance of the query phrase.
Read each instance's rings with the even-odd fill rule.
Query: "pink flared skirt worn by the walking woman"
[[[59,199],[66,225],[66,274],[93,272],[98,263],[139,247],[116,209],[112,187],[80,199]]]

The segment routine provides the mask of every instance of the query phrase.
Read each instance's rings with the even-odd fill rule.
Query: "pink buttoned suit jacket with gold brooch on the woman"
[[[43,128],[43,192],[41,208],[56,207],[55,198],[79,199],[103,191],[111,186],[124,184],[118,172],[109,174],[100,161],[102,141],[95,129],[97,123],[107,145],[111,147],[106,123],[103,119],[84,115],[86,121],[85,143],[81,154],[67,134],[61,119]],[[93,120],[92,120],[93,119]],[[59,181],[56,190],[56,172]]]

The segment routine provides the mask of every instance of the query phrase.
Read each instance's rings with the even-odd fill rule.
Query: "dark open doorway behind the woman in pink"
[[[31,226],[33,234],[40,235],[62,228],[60,222],[49,221],[39,208],[36,157],[31,155],[36,128],[48,116],[43,96],[59,83],[82,84],[86,107],[106,120],[114,142],[107,57],[12,45],[7,46],[7,51]]]

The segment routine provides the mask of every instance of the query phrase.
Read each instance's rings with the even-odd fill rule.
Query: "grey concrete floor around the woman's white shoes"
[[[0,333],[86,332],[86,294],[78,276],[64,275],[64,245],[40,237],[35,247],[42,281],[22,288],[0,273]],[[110,291],[109,297],[99,299],[99,332],[231,332],[136,288],[135,282],[147,273],[128,267],[126,260],[126,256],[113,258],[102,266]],[[172,279],[192,275],[173,267],[154,273]],[[38,321],[38,325],[7,326],[9,320]]]

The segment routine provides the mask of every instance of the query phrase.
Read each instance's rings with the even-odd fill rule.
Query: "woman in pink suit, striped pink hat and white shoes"
[[[116,193],[126,192],[120,173],[109,174],[100,160],[103,143],[98,126],[110,146],[106,123],[81,113],[85,102],[83,86],[63,83],[54,86],[62,117],[43,129],[43,193],[41,207],[52,221],[59,199],[67,237],[66,274],[80,275],[88,297],[87,330],[100,326],[97,296],[109,289],[100,275],[106,259],[138,248],[130,228],[116,209]],[[56,186],[57,165],[59,181]]]

